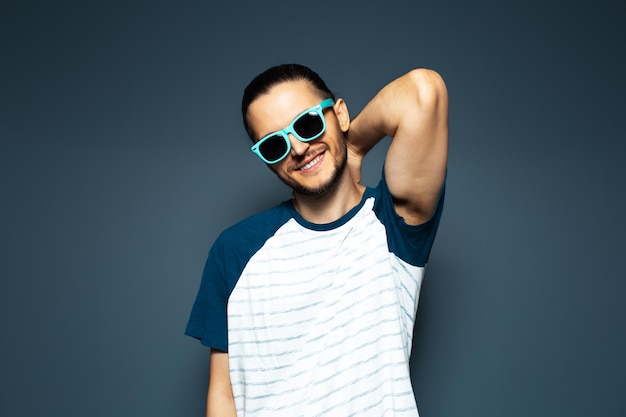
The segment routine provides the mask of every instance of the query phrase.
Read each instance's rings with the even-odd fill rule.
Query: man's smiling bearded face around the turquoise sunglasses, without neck
[[[248,123],[258,140],[284,129],[296,116],[324,98],[306,81],[283,82],[250,104]],[[345,104],[342,105],[345,108]],[[300,142],[289,135],[291,152],[282,161],[269,166],[296,193],[324,195],[334,188],[345,171],[347,150],[343,134],[347,125],[340,124],[333,110],[324,110],[326,131],[322,136],[311,142]]]

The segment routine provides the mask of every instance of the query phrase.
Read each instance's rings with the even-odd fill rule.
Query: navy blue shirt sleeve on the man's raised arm
[[[411,265],[425,266],[439,227],[443,210],[445,182],[441,187],[439,200],[430,219],[416,226],[407,224],[402,216],[396,213],[384,170],[376,191],[379,192],[379,195],[376,198],[374,210],[387,229],[389,250]]]

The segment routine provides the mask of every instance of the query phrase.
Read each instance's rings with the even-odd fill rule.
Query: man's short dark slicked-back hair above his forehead
[[[261,74],[257,75],[248,84],[243,92],[241,100],[241,115],[243,116],[243,125],[248,132],[250,139],[254,141],[254,133],[248,124],[248,107],[260,95],[267,93],[272,87],[285,81],[308,81],[315,89],[317,89],[324,98],[335,99],[335,95],[330,91],[324,80],[317,73],[304,65],[299,64],[283,64],[271,67]]]

